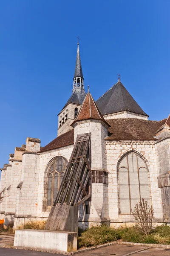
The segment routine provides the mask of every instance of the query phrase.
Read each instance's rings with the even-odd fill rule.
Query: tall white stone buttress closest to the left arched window
[[[27,138],[26,151],[23,154],[20,182],[17,184],[17,202],[14,215],[14,229],[22,225],[27,217],[37,216],[37,199],[40,172],[40,140]]]

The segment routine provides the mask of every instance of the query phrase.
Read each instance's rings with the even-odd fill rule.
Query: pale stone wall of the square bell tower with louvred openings
[[[74,109],[81,108],[80,105],[69,103],[63,110],[62,112],[59,113],[58,115],[58,130],[57,130],[57,136],[64,134],[67,131],[70,131],[73,129],[71,127],[72,122],[74,121]],[[67,115],[67,119],[66,119]]]

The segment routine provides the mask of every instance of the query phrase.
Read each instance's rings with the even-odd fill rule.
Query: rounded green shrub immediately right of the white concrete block
[[[99,244],[116,241],[119,234],[116,229],[106,225],[91,227],[85,230],[78,239],[79,247],[96,246]]]

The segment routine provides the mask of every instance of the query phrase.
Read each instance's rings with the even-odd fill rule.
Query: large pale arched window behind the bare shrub
[[[148,169],[134,152],[127,154],[118,166],[119,213],[130,214],[144,198],[150,204]]]

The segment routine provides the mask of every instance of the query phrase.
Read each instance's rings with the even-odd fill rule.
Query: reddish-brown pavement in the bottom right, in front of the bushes
[[[170,249],[114,244],[107,247],[102,247],[96,250],[90,250],[77,256],[170,256]]]

